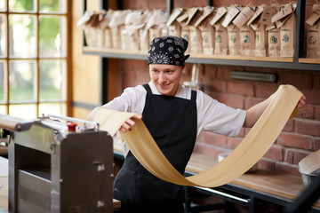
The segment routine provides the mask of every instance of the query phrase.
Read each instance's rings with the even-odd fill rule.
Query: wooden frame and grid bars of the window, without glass
[[[39,114],[39,105],[40,104],[46,104],[46,103],[58,103],[62,104],[65,106],[65,114],[59,114],[59,115],[66,115],[66,116],[72,116],[72,72],[71,72],[71,66],[72,66],[72,41],[71,41],[71,35],[72,35],[72,1],[68,0],[60,0],[60,1],[65,1],[66,2],[66,8],[65,12],[39,12],[39,0],[36,0],[36,11],[32,12],[12,12],[9,11],[9,1],[10,0],[5,0],[5,11],[0,11],[0,14],[4,14],[5,16],[5,21],[6,21],[6,43],[5,43],[5,48],[6,48],[6,56],[2,57],[1,60],[4,61],[4,102],[0,103],[0,106],[5,106],[5,113],[10,114],[10,106],[13,105],[23,105],[23,104],[34,104],[36,105],[36,115],[41,115]],[[21,15],[35,15],[36,16],[36,57],[30,57],[30,58],[14,58],[10,56],[10,26],[9,26],[9,16],[11,14],[21,14]],[[40,57],[39,56],[39,17],[41,16],[58,16],[58,17],[64,17],[66,20],[66,32],[64,32],[65,36],[61,36],[61,39],[66,39],[65,41],[65,55],[61,55],[60,57]],[[62,47],[63,48],[63,47]],[[35,60],[36,61],[36,85],[34,85],[35,88],[35,93],[36,97],[35,100],[33,101],[10,101],[10,82],[9,82],[9,76],[10,76],[10,61],[12,60]],[[62,75],[63,81],[65,82],[65,86],[62,86],[61,90],[65,93],[65,98],[64,99],[59,99],[59,100],[40,100],[39,94],[40,94],[40,61],[41,60],[62,60],[65,62],[66,65],[66,70],[65,74]],[[49,112],[50,113],[50,112]],[[63,112],[62,112],[63,113]]]

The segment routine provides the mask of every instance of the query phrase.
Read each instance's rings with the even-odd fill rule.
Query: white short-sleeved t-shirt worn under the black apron
[[[156,90],[155,84],[148,83],[153,94],[161,95]],[[122,112],[132,112],[142,114],[147,91],[142,85],[129,87],[124,90],[121,96],[113,99],[104,106],[108,109],[115,109]],[[191,99],[191,90],[181,86],[175,94],[181,99]],[[208,130],[217,134],[236,137],[241,130],[246,111],[236,109],[220,103],[216,99],[204,94],[203,91],[196,91],[196,113],[197,113],[197,132],[196,137],[202,130]],[[188,114],[186,114],[188,116]],[[127,153],[124,145],[124,153]]]

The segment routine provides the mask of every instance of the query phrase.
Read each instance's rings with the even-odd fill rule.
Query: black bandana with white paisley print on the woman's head
[[[166,64],[184,66],[189,55],[184,55],[188,41],[182,37],[161,36],[150,43],[148,51],[149,64]]]

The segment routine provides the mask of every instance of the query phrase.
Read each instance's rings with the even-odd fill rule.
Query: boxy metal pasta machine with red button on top
[[[8,135],[9,212],[113,212],[113,140],[99,124],[0,114]]]

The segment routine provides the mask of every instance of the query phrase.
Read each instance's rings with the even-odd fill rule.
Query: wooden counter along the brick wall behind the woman
[[[122,144],[114,143],[114,154],[116,157],[123,157]],[[208,170],[216,163],[218,163],[216,157],[193,153],[188,162],[186,174],[195,175]],[[282,205],[292,202],[305,189],[301,177],[293,177],[268,170],[244,173],[241,177],[237,177],[222,187],[234,188],[237,193],[241,191],[252,194],[253,192],[259,198],[268,198],[269,201]],[[239,191],[237,191],[238,189]],[[315,208],[320,208],[320,201],[316,201]]]

